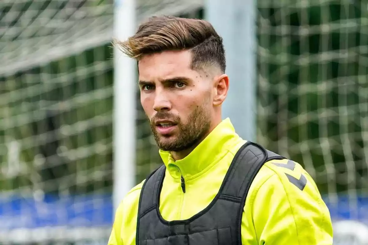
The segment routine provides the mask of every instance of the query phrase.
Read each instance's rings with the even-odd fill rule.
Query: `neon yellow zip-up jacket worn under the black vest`
[[[160,151],[167,168],[160,194],[162,217],[184,220],[205,209],[244,143],[225,119],[184,159],[175,162],[168,152]],[[243,210],[242,244],[332,245],[329,210],[313,179],[298,163],[294,170],[275,163],[286,164],[287,160],[266,162],[251,184]],[[296,179],[305,176],[304,189],[292,184],[285,173]],[[118,207],[109,245],[135,245],[142,185],[132,188]]]

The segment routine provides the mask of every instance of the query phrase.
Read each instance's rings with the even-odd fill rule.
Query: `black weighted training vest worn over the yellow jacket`
[[[174,221],[164,220],[159,211],[166,170],[161,166],[141,190],[136,245],[241,245],[245,198],[259,169],[271,159],[284,157],[248,141],[234,156],[213,201],[190,219]]]

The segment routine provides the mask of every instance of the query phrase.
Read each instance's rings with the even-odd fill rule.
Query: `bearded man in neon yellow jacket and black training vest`
[[[153,17],[117,45],[138,62],[164,165],[122,200],[109,245],[332,244],[309,174],[221,119],[229,77],[212,25]]]

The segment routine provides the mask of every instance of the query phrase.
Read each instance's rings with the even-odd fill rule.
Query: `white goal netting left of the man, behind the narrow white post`
[[[201,4],[137,1],[138,21]],[[0,244],[106,244],[113,0],[2,0],[0,9]],[[138,180],[159,163],[142,118]]]

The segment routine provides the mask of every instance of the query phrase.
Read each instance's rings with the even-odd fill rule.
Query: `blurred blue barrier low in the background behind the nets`
[[[325,202],[333,220],[354,219],[368,224],[368,197],[347,197],[337,203]],[[355,208],[354,208],[355,207]],[[86,195],[57,198],[46,196],[43,201],[20,195],[0,197],[0,230],[53,226],[111,226],[113,223],[111,195]]]

